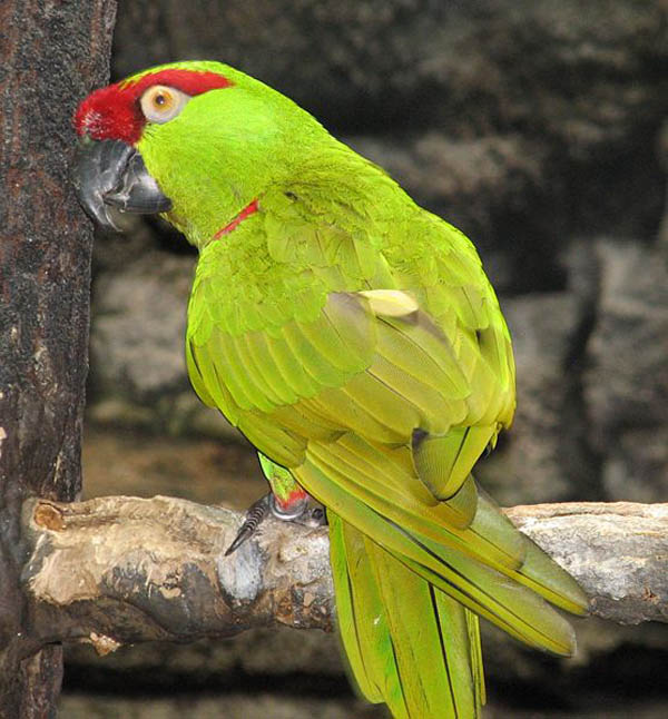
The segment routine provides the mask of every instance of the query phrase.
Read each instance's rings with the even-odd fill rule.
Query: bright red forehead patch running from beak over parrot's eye
[[[234,83],[217,72],[184,69],[158,70],[134,82],[121,80],[91,92],[79,105],[73,118],[77,135],[134,145],[146,125],[139,99],[154,85],[168,85],[186,95],[196,96]]]

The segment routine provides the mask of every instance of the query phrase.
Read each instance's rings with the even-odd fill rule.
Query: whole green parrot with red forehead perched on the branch
[[[479,717],[479,617],[571,654],[550,604],[582,614],[586,595],[472,475],[515,390],[471,242],[218,62],[101,88],[75,126],[87,211],[107,227],[110,207],[160,213],[199,250],[190,381],[257,449],[275,514],[298,516],[308,495],[326,508],[361,693],[395,719]]]

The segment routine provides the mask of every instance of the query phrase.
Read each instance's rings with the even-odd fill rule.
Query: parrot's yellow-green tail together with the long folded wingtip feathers
[[[395,719],[480,715],[478,615],[532,647],[574,651],[570,624],[544,600],[583,613],[584,594],[484,494],[451,543],[446,534],[436,541],[429,524],[424,533],[418,523],[406,529],[370,506],[317,461],[317,452],[295,476],[327,506],[338,626],[352,673],[362,693],[385,701]],[[471,484],[462,491],[471,492]],[[466,551],[468,533],[489,548],[477,540]]]

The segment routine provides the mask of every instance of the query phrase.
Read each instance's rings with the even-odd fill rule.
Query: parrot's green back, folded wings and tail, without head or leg
[[[294,197],[261,200],[264,221],[205,249],[189,307],[193,384],[327,506],[340,626],[363,693],[422,718],[445,692],[439,716],[474,716],[470,612],[570,653],[570,627],[533,591],[586,605],[471,476],[512,418],[508,331],[475,252],[442,220],[420,211],[369,228]],[[433,681],[421,679],[433,667]]]

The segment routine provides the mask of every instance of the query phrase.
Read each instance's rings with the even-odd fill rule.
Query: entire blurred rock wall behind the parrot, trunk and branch
[[[514,427],[477,474],[507,505],[668,501],[668,4],[134,0],[112,79],[216,59],[315,114],[478,246],[513,333]],[[85,492],[245,509],[247,444],[183,360],[195,256],[154,220],[99,237]],[[577,623],[572,660],[484,639],[487,717],[668,716],[668,627]],[[321,632],[68,649],[60,716],[377,719]]]

